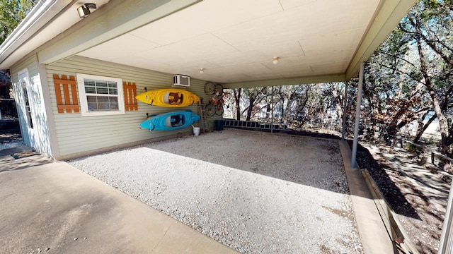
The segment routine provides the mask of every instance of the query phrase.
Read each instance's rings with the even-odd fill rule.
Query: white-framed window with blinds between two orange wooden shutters
[[[121,78],[77,73],[82,116],[125,114]]]

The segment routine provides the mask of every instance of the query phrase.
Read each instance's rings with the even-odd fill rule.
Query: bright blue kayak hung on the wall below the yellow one
[[[192,111],[176,111],[151,116],[147,121],[140,123],[140,127],[151,131],[171,131],[186,128],[196,121],[200,116]]]

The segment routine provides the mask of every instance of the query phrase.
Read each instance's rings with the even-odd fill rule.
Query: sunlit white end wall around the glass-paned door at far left
[[[33,147],[35,150],[47,155],[52,154],[50,146],[50,126],[48,123],[48,116],[45,107],[46,102],[45,94],[42,90],[41,73],[39,68],[38,59],[35,54],[32,54],[22,61],[19,61],[11,67],[11,83],[15,92],[15,99],[18,109],[19,121],[21,123],[21,133],[23,141],[26,145]],[[19,82],[19,74],[26,76],[26,90],[23,90],[23,85]],[[28,126],[25,118],[28,117],[24,110],[23,96],[27,92],[28,102],[30,104],[30,120],[33,123],[33,128]]]

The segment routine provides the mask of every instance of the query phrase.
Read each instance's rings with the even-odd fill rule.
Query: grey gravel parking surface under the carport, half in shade
[[[362,253],[337,140],[226,129],[69,164],[241,253]]]

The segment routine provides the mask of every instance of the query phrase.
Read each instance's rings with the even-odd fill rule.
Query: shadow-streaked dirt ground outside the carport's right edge
[[[359,145],[357,163],[376,181],[420,253],[437,253],[450,185],[399,147]],[[428,168],[427,168],[428,167]]]

